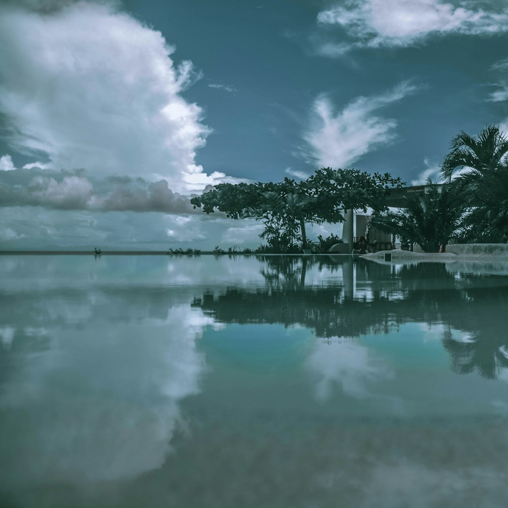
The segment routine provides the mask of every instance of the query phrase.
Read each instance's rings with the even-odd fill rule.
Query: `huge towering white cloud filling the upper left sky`
[[[44,153],[54,169],[202,173],[196,151],[210,130],[181,97],[199,73],[175,64],[160,32],[110,3],[23,5],[34,9],[0,8],[0,111],[12,146]]]

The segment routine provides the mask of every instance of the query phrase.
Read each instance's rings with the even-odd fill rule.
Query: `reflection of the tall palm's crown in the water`
[[[508,368],[508,337],[476,333],[466,341],[452,337],[451,329],[444,332],[444,348],[452,357],[452,368],[459,374],[477,371],[482,377],[496,379]]]

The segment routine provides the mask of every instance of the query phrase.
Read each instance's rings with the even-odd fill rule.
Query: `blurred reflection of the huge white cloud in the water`
[[[16,439],[4,439],[0,446],[10,458],[11,481],[80,484],[133,478],[160,467],[175,430],[184,429],[180,402],[200,392],[206,364],[196,342],[213,320],[177,304],[167,309],[166,319],[138,317],[105,336],[100,330],[111,324],[97,298],[101,295],[70,309],[89,313],[91,321],[85,330],[74,329],[72,340],[56,319],[47,322],[50,347],[38,354],[34,368],[17,369],[3,386],[0,407],[16,408],[13,414],[21,411],[27,422],[18,427]],[[12,341],[8,328],[0,330],[7,342]],[[69,376],[74,391],[65,388]],[[21,449],[18,438],[29,439],[30,447]]]

